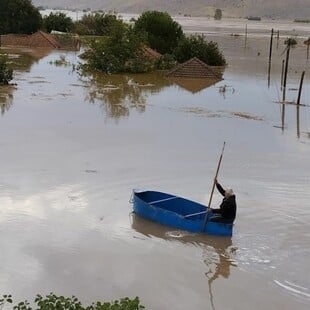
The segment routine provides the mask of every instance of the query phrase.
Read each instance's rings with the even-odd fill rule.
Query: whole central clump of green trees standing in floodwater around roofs
[[[117,21],[106,36],[92,40],[83,55],[84,67],[105,73],[144,73],[169,69],[176,61],[192,57],[211,66],[226,64],[215,42],[208,42],[204,36],[185,37],[181,26],[168,13],[145,12],[133,27]],[[147,55],[146,47],[163,55]]]

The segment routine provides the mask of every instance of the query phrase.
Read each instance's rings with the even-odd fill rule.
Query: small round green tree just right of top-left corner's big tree
[[[52,30],[70,32],[73,28],[73,21],[64,13],[50,13],[50,15],[43,18],[43,27],[47,32]]]

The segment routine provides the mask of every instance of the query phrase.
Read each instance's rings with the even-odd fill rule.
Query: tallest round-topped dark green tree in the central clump
[[[171,54],[184,38],[180,24],[166,12],[144,12],[135,22],[134,29],[145,32],[149,46],[161,54]]]

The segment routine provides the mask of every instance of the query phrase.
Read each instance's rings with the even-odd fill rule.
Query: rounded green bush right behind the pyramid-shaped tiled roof
[[[178,62],[197,57],[207,65],[223,66],[226,60],[216,42],[207,41],[203,35],[191,35],[181,40],[174,50]]]

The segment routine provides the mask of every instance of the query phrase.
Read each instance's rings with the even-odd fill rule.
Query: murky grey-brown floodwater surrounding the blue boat
[[[83,302],[139,296],[147,309],[309,309],[310,79],[306,46],[213,36],[229,63],[207,88],[161,73],[81,76],[78,54],[3,50],[0,292]],[[194,87],[193,87],[194,86]],[[138,218],[133,188],[207,203],[219,173],[238,213],[232,238]],[[212,207],[221,201],[215,193]]]

